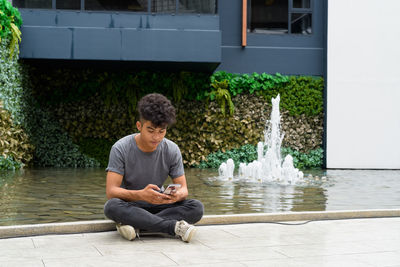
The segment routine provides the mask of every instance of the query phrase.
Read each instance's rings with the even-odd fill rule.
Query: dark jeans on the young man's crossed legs
[[[142,201],[127,202],[119,198],[111,198],[104,205],[104,214],[116,223],[170,235],[175,235],[177,221],[184,220],[194,224],[200,221],[203,211],[203,204],[196,199],[153,205]]]

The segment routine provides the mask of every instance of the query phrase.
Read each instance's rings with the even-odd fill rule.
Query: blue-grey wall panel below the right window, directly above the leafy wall
[[[323,75],[322,48],[222,47],[217,70],[233,73],[266,72],[286,75]]]

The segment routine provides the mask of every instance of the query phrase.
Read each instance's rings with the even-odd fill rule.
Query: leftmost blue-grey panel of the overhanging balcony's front
[[[72,29],[22,26],[21,58],[70,58]]]

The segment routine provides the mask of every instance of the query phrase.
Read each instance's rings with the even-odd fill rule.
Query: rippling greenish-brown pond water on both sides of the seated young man
[[[400,207],[400,170],[314,170],[309,184],[221,181],[216,170],[186,169],[190,198],[205,214]],[[0,225],[104,219],[104,169],[0,172]]]

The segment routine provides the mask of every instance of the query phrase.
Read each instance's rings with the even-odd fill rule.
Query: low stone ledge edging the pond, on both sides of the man
[[[196,225],[400,217],[400,209],[205,215]],[[115,230],[111,220],[0,226],[0,238]]]

